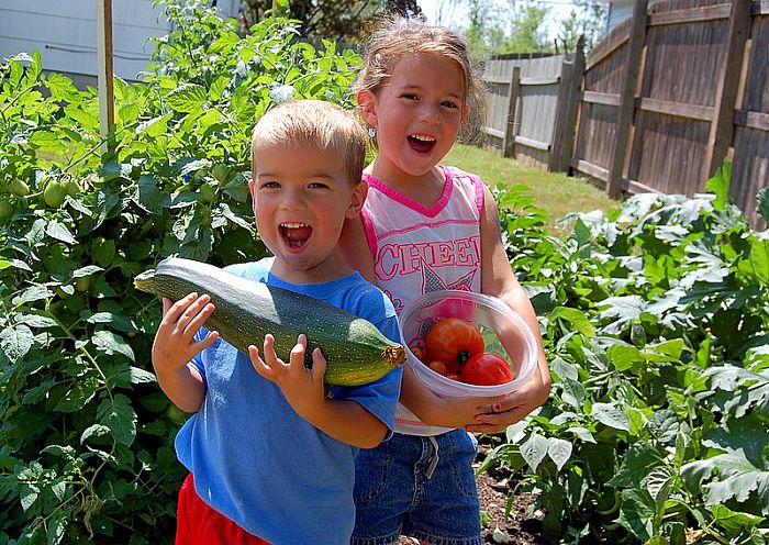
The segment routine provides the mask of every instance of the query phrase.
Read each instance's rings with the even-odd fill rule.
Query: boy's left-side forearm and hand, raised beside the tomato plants
[[[205,397],[205,385],[189,362],[211,346],[219,333],[210,332],[202,341],[194,334],[214,311],[209,296],[190,293],[171,304],[163,299],[163,320],[153,343],[153,367],[168,399],[185,412],[197,412]]]

